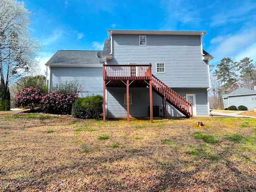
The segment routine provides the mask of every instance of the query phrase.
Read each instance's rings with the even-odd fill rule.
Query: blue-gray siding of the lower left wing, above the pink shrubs
[[[50,90],[56,83],[77,81],[80,88],[80,97],[92,94],[103,95],[103,78],[101,67],[51,67]]]

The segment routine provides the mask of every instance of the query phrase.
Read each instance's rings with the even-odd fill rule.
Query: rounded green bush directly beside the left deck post
[[[92,118],[98,119],[103,112],[103,97],[101,95],[87,96],[82,101],[82,106]]]

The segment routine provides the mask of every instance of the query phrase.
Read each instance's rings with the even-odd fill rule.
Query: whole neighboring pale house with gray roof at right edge
[[[229,94],[223,94],[224,108],[229,106],[246,106],[249,110],[256,107],[256,86],[254,90],[247,88],[239,88]]]

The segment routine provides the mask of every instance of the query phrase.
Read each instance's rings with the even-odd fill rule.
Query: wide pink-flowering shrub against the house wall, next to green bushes
[[[71,114],[72,104],[78,98],[76,92],[51,91],[42,98],[42,107],[53,114]]]

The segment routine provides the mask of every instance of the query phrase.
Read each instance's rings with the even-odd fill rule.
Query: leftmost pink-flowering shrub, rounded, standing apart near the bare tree
[[[16,107],[30,107],[34,110],[35,106],[40,104],[44,93],[37,87],[28,87],[21,89],[15,94],[14,101]]]

